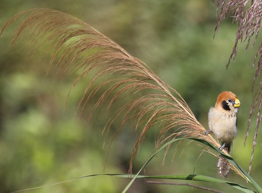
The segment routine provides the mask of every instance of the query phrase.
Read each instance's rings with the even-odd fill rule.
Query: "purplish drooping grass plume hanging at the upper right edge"
[[[227,64],[227,68],[230,65],[231,60],[233,59],[233,62],[235,62],[235,58],[237,55],[237,46],[238,43],[240,42],[241,44],[246,44],[246,50],[251,47],[255,46],[257,42],[257,38],[260,32],[260,27],[261,27],[261,19],[262,19],[262,1],[261,0],[217,0],[213,1],[217,5],[217,12],[220,10],[219,17],[218,17],[218,22],[215,27],[215,33],[218,31],[220,24],[223,19],[227,17],[227,15],[230,13],[233,15],[233,22],[237,23],[238,25],[238,30],[236,32],[236,39],[235,39],[235,44],[232,49],[232,53],[229,57],[229,61]],[[262,42],[258,42],[258,50],[254,56],[254,61],[252,64],[252,68],[255,67],[255,64],[257,63],[256,66],[256,71],[253,79],[253,84],[252,84],[252,91],[254,89],[254,84],[257,78],[260,76],[261,68],[262,68]],[[258,61],[257,61],[258,58]],[[261,87],[262,82],[259,82],[259,87],[256,91],[256,94],[254,95],[253,102],[251,105],[250,109],[250,116],[249,116],[249,121],[248,121],[248,127],[247,127],[247,132],[246,132],[246,137],[245,137],[245,144],[247,140],[247,136],[249,133],[249,128],[250,128],[250,122],[251,119],[254,115],[254,111],[257,109],[257,117],[256,117],[256,126],[255,126],[255,135],[253,138],[253,148],[252,148],[252,153],[251,153],[251,160],[250,160],[250,165],[249,165],[249,173],[251,171],[251,165],[254,157],[254,150],[256,146],[256,138],[258,134],[258,127],[260,124],[261,120],[261,101],[262,101],[262,87]]]

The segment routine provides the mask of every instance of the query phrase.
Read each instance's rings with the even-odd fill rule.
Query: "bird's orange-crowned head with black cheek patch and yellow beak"
[[[215,108],[223,109],[225,111],[234,111],[240,106],[240,101],[236,95],[230,91],[224,91],[217,97]]]

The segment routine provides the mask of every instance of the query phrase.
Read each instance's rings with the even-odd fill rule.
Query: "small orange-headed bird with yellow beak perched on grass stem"
[[[211,107],[208,113],[209,130],[204,135],[213,133],[221,142],[218,148],[220,151],[225,149],[230,154],[233,139],[237,134],[237,112],[240,101],[237,96],[230,91],[221,92],[216,100],[215,106]],[[229,163],[219,155],[217,163],[218,174],[224,178],[229,173]]]

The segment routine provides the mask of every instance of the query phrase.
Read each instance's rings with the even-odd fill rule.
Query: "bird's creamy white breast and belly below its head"
[[[231,142],[236,137],[236,113],[209,110],[209,129],[222,142]]]

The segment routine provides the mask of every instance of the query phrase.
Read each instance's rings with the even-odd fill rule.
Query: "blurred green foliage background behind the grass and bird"
[[[232,25],[228,18],[213,39],[217,19],[216,6],[211,0],[1,0],[0,25],[4,25],[15,13],[39,7],[78,17],[142,59],[182,95],[206,128],[207,114],[217,95],[225,90],[234,92],[240,99],[241,107],[232,156],[248,170],[255,119],[246,147],[244,138],[254,95],[251,84],[255,69],[251,65],[256,47],[254,51],[248,50],[244,54],[245,46],[240,45],[235,64],[226,70],[237,25]],[[113,113],[93,116],[88,123],[86,117],[96,102],[94,99],[82,118],[74,118],[78,102],[91,77],[85,77],[71,91],[64,110],[65,99],[77,75],[68,73],[53,82],[51,75],[45,76],[50,55],[44,54],[44,50],[40,49],[31,57],[28,42],[21,40],[10,47],[18,24],[13,24],[0,36],[0,192],[52,184],[89,174],[127,173],[135,142],[132,122],[126,124],[115,137],[106,160],[110,138],[118,125],[113,125],[107,137],[102,136],[102,130]],[[154,150],[154,138],[155,132],[148,132],[134,161],[134,173]],[[261,133],[257,138],[251,176],[262,185]],[[161,166],[163,155],[151,161],[146,167],[146,174],[195,173],[220,178],[217,175],[217,159],[208,153],[198,159],[203,148],[192,142],[183,151],[186,143],[188,141],[178,147],[173,161],[176,148],[170,149],[164,166]],[[227,180],[248,186],[233,171]],[[120,192],[128,181],[115,177],[92,177],[28,192]],[[237,192],[221,184],[194,184]],[[174,191],[203,192],[186,186],[146,184],[144,180],[137,180],[128,192]]]

